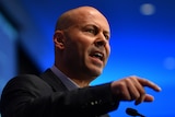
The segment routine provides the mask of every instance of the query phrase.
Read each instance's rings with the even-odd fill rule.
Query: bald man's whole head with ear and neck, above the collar
[[[55,65],[81,86],[98,77],[110,54],[110,28],[107,19],[93,7],[79,7],[57,21]],[[95,54],[102,55],[95,58]]]

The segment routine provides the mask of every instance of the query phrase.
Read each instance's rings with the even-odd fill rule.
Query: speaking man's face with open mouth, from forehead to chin
[[[96,11],[80,13],[65,36],[65,58],[70,70],[82,77],[98,77],[110,52],[107,20]]]

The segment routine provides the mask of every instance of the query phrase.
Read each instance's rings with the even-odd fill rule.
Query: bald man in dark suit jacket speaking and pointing
[[[139,77],[89,86],[110,52],[109,24],[92,7],[63,13],[54,35],[55,65],[40,75],[12,79],[1,96],[2,117],[108,117],[120,101],[152,102],[143,86],[161,89]]]

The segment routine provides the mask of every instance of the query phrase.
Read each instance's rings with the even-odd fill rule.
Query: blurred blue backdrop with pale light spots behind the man
[[[112,27],[112,55],[92,85],[136,74],[162,87],[153,103],[122,102],[112,117],[133,107],[148,117],[175,117],[175,0],[0,0],[0,92],[19,73],[54,63],[52,34],[66,10],[92,5]]]

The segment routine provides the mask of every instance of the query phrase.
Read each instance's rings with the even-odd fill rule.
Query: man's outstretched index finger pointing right
[[[138,81],[142,86],[148,86],[150,89],[153,89],[156,92],[161,91],[161,87],[158,84],[153,83],[152,81],[149,81],[147,79],[138,79]]]

